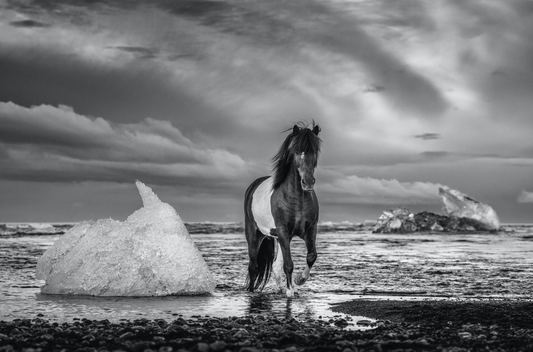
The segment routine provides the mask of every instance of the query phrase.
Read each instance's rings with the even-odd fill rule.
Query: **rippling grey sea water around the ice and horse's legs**
[[[63,228],[62,231],[68,228]],[[40,294],[38,258],[61,228],[4,227],[0,231],[0,320],[44,317],[167,319],[264,314],[328,319],[331,304],[375,299],[531,299],[533,225],[505,225],[499,233],[372,234],[369,228],[326,226],[317,240],[311,278],[287,299],[269,284],[244,290],[247,246],[238,227],[190,228],[191,237],[217,279],[211,295],[189,297],[86,297]],[[196,230],[195,230],[196,229]],[[59,231],[59,232],[58,232]],[[292,243],[295,271],[305,267],[302,240]],[[366,317],[352,317],[353,321]],[[369,317],[372,318],[372,317]]]

